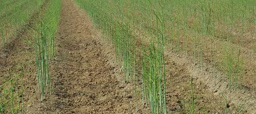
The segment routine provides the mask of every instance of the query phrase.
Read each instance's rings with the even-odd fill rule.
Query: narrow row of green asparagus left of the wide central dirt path
[[[34,35],[34,53],[36,63],[36,77],[38,90],[41,92],[41,101],[45,94],[50,93],[51,97],[51,77],[49,74],[49,62],[53,60],[55,54],[55,37],[60,18],[61,0],[51,0],[46,13],[40,17],[36,25]]]

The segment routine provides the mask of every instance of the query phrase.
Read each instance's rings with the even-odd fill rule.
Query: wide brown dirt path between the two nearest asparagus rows
[[[89,16],[72,0],[62,5],[51,65],[53,103],[46,100],[30,113],[148,113],[133,87],[119,80],[114,53]]]

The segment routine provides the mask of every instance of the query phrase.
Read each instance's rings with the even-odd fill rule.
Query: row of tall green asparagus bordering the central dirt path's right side
[[[151,31],[154,34],[149,47],[136,46],[136,39],[133,34],[130,23],[129,13],[123,12],[125,9],[120,7],[124,2],[116,1],[113,6],[100,7],[97,2],[76,1],[92,17],[93,24],[103,30],[103,33],[112,38],[115,47],[116,60],[122,64],[121,70],[124,71],[125,82],[132,82],[136,95],[137,80],[142,79],[143,104],[150,104],[152,113],[166,113],[165,102],[165,67],[164,67],[164,18],[163,12],[157,11],[154,15],[156,20],[161,23],[157,31]],[[108,1],[101,1],[101,4],[108,4]],[[160,4],[160,3],[158,3]],[[161,7],[164,8],[164,7]],[[119,9],[119,10],[115,10]],[[108,12],[103,12],[107,10]],[[153,10],[153,9],[152,9]],[[163,11],[164,9],[162,9]],[[157,40],[156,40],[157,39]],[[145,50],[140,50],[142,48]],[[142,54],[142,53],[143,54]],[[143,70],[136,68],[136,56],[143,55],[147,59],[142,59]],[[143,72],[143,76],[137,75],[137,72]]]

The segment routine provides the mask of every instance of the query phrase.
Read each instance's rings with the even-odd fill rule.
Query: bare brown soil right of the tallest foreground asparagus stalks
[[[235,91],[228,90],[223,72],[213,72],[212,66],[206,64],[201,69],[200,66],[192,65],[192,58],[183,54],[174,54],[168,49],[166,49],[165,59],[166,102],[170,112],[189,113],[191,77],[196,113],[225,113],[225,108],[229,113],[256,112],[253,91],[241,87]],[[224,96],[227,97],[227,101]]]

